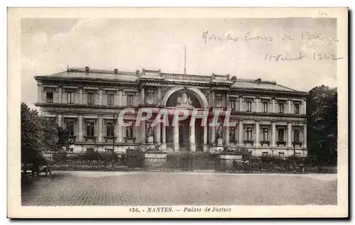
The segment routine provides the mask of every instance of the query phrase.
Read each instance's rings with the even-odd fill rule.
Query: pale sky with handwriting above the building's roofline
[[[333,18],[22,18],[21,100],[34,106],[33,77],[67,66],[183,73],[185,45],[187,74],[335,87],[338,41]]]

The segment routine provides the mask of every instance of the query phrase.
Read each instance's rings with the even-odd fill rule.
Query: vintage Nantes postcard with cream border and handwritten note
[[[8,216],[348,216],[346,8],[9,8]]]

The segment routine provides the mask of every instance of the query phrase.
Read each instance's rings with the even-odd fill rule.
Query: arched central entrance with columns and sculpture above
[[[175,88],[173,92],[167,94],[169,95],[165,96],[163,102],[169,108],[187,109],[192,112],[192,109],[203,110],[207,106],[206,97],[196,89]],[[207,127],[201,126],[202,119],[197,118],[195,126],[190,126],[189,115],[187,119],[179,121],[178,125],[174,126],[173,117],[174,115],[169,116],[170,126],[166,127],[167,148],[174,151],[203,151],[204,144],[207,144],[207,140],[204,141],[204,132],[207,138]]]

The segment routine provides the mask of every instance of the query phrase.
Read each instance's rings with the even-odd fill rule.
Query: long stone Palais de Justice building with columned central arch
[[[45,116],[55,117],[73,140],[72,153],[128,148],[213,153],[221,146],[248,148],[253,155],[307,155],[306,92],[263,79],[229,75],[183,75],[160,70],[92,70],[68,68],[37,76],[38,103]],[[183,102],[182,102],[183,101]],[[183,103],[183,104],[182,104]],[[230,127],[189,126],[190,119],[151,128],[153,117],[139,126],[118,123],[121,110],[149,107],[154,112],[176,108],[231,110]],[[124,121],[136,115],[125,114]],[[196,123],[200,123],[197,119]],[[212,120],[212,116],[208,117]],[[221,121],[221,125],[222,125]]]

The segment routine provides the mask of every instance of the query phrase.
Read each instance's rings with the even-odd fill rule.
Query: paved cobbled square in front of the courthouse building
[[[337,204],[337,175],[53,172],[21,195],[35,206]]]

